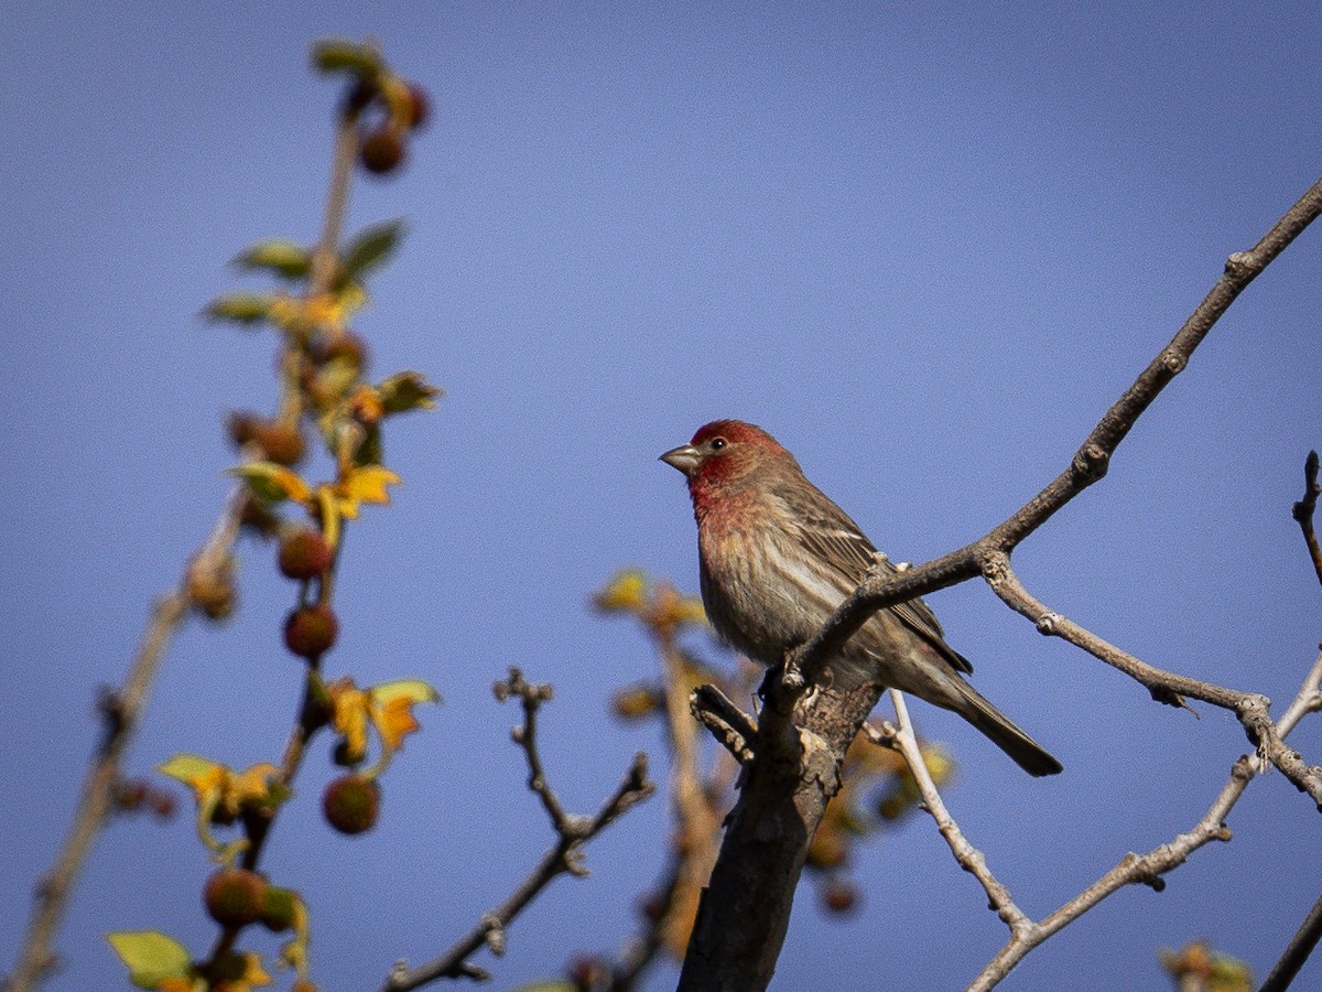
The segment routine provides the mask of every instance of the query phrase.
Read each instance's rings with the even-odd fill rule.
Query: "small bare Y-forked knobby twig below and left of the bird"
[[[509,669],[506,681],[496,682],[496,698],[505,701],[517,696],[524,704],[524,723],[510,734],[514,743],[524,749],[527,758],[527,786],[541,799],[557,843],[542,856],[542,860],[510,895],[490,913],[483,915],[477,925],[446,954],[428,964],[410,970],[405,962],[398,962],[382,992],[407,992],[407,989],[436,981],[438,979],[475,979],[485,981],[490,973],[468,958],[483,946],[497,958],[505,952],[505,930],[525,906],[527,906],[551,880],[561,874],[587,874],[583,865],[583,844],[595,837],[611,823],[619,819],[629,807],[646,799],[656,790],[648,780],[648,759],[637,754],[616,791],[602,804],[595,816],[579,816],[564,812],[559,798],[546,779],[541,753],[537,746],[537,713],[542,704],[551,698],[550,685],[537,685],[524,679],[518,668]]]

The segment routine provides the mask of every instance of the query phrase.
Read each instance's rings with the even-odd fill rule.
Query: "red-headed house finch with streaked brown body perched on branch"
[[[760,427],[715,421],[661,460],[689,477],[707,618],[722,640],[760,664],[781,664],[812,638],[878,561],[858,525]],[[1030,775],[1060,771],[964,681],[973,667],[945,643],[921,599],[874,614],[829,671],[843,690],[874,682],[954,710]]]

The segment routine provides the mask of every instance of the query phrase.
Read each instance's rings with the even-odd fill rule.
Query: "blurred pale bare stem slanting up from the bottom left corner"
[[[189,559],[178,587],[156,600],[123,685],[103,694],[99,708],[104,735],[83,779],[82,795],[63,847],[56,854],[50,872],[37,882],[36,907],[28,934],[19,962],[4,983],[8,992],[28,992],[57,967],[56,935],[73,886],[114,809],[124,753],[137,729],[171,639],[194,606],[192,590],[198,587],[198,578],[225,575],[230,569],[243,500],[245,492],[235,487],[210,536]]]

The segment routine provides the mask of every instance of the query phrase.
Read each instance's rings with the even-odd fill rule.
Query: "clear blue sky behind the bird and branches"
[[[988,530],[1072,455],[1220,271],[1319,175],[1314,4],[11,5],[0,38],[0,948],[50,862],[153,595],[205,534],[234,456],[225,410],[268,409],[272,341],[201,324],[267,235],[315,237],[333,87],[320,36],[378,36],[434,123],[352,222],[411,233],[358,320],[374,368],[448,397],[401,422],[394,505],[350,534],[333,672],[434,681],[381,827],[319,825],[313,755],[268,849],[303,889],[327,989],[447,946],[549,835],[508,742],[506,665],[557,686],[546,759],[587,811],[654,733],[607,716],[653,671],[587,595],[639,565],[695,589],[680,477],[656,455],[715,417],[761,423],[894,558]],[[1322,233],[1235,304],[1108,479],[1015,557],[1054,608],[1155,664],[1284,708],[1319,639],[1290,503],[1322,446]],[[297,693],[290,589],[243,549],[243,606],[171,652],[130,758],[279,753]],[[954,816],[1040,915],[1186,829],[1245,742],[1154,705],[990,593],[931,598],[977,685],[1066,774],[1030,780],[915,705],[961,772]],[[1313,718],[1297,746],[1319,761]],[[1261,979],[1318,897],[1319,823],[1280,775],[1235,840],[1052,939],[1011,989],[1161,987],[1161,944],[1208,936]],[[652,802],[510,932],[497,987],[613,950],[662,861]],[[208,865],[186,817],[123,821],[74,899],[53,989],[116,987],[107,930],[198,951]],[[914,819],[871,844],[866,911],[805,890],[777,988],[953,988],[1003,942]],[[673,981],[658,972],[654,988]],[[1322,981],[1314,962],[1300,987]]]

